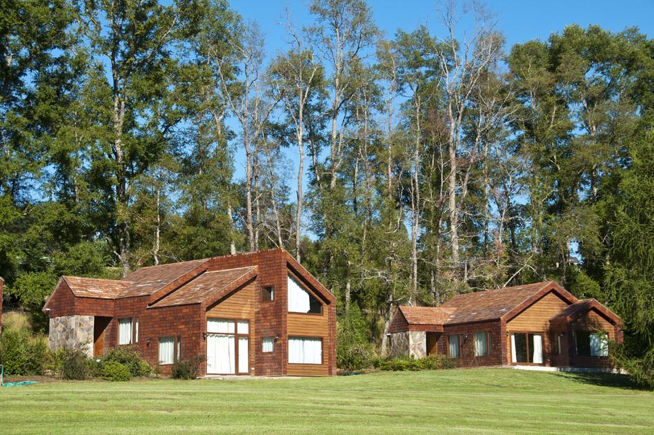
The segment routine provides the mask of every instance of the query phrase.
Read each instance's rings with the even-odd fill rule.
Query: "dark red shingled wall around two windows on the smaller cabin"
[[[490,332],[490,352],[486,356],[475,356],[475,332]],[[448,336],[459,334],[463,338],[462,354],[453,358],[457,367],[483,367],[504,364],[504,335],[502,322],[462,323],[460,325],[445,325],[443,335],[439,338],[437,349],[439,354],[448,354]]]

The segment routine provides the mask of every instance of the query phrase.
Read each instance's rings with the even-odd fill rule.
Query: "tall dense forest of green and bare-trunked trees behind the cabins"
[[[654,39],[306,7],[270,52],[226,0],[3,1],[5,306],[46,328],[61,275],[282,247],[337,296],[339,358],[398,305],[555,280],[654,365]]]

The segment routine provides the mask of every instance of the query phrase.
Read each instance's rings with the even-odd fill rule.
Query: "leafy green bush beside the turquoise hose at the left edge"
[[[0,340],[0,364],[5,374],[14,376],[40,376],[48,363],[46,338],[27,329],[6,327]]]

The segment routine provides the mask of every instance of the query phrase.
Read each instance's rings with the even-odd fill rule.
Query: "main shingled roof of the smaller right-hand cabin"
[[[448,324],[498,320],[500,318],[510,320],[551,290],[554,290],[568,303],[577,302],[577,298],[559,284],[546,281],[465,293],[454,296],[441,307],[455,309],[453,315],[446,322]]]

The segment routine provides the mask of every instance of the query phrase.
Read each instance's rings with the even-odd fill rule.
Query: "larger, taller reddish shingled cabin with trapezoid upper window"
[[[161,372],[336,374],[336,300],[283,249],[142,267],[122,280],[63,276],[49,342],[100,357],[130,346]]]

